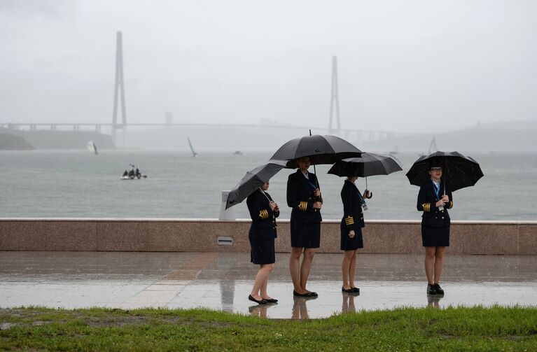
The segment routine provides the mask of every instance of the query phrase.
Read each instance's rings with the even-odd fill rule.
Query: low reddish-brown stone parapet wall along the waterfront
[[[249,252],[250,220],[0,218],[0,251]],[[231,245],[218,244],[230,237]],[[288,252],[279,220],[277,252]],[[371,220],[360,253],[423,253],[419,220]],[[320,253],[340,253],[340,222],[321,225]],[[536,255],[537,221],[453,221],[452,254]]]

